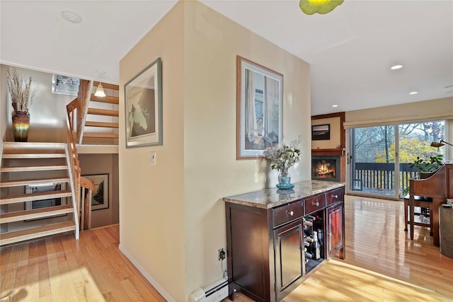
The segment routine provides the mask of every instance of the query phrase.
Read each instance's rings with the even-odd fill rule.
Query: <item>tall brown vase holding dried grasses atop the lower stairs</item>
[[[16,69],[9,70],[6,76],[8,92],[13,105],[13,134],[14,141],[28,141],[28,128],[30,127],[30,105],[35,98],[35,91],[31,90],[31,76],[24,79]]]

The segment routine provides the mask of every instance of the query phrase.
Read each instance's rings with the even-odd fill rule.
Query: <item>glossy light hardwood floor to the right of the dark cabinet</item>
[[[345,197],[345,260],[324,262],[283,301],[453,301],[453,259],[432,245],[429,228],[415,226],[409,239],[403,210],[403,202]]]

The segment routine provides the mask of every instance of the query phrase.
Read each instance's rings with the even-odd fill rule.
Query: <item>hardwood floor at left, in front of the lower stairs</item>
[[[0,302],[165,301],[118,249],[118,225],[0,249]]]

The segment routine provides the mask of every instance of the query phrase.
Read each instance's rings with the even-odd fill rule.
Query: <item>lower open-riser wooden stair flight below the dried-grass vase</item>
[[[79,238],[65,146],[4,143],[0,165],[0,245],[68,231],[74,231]]]

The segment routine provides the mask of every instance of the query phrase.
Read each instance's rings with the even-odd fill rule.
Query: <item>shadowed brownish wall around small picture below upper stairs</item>
[[[82,175],[108,174],[108,209],[91,212],[91,227],[108,226],[119,221],[118,155],[79,154]]]

